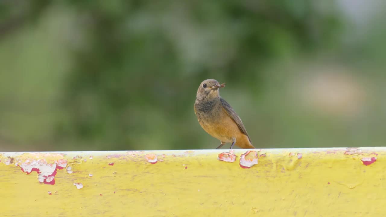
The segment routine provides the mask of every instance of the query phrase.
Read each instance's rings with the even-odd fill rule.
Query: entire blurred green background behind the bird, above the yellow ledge
[[[207,78],[257,148],[383,146],[384,6],[1,0],[0,151],[215,148]]]

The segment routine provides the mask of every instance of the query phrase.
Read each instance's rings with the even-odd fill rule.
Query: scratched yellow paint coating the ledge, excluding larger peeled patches
[[[251,168],[239,165],[245,150],[233,163],[222,151],[0,153],[0,214],[386,216],[386,148],[257,150]],[[39,159],[67,161],[54,185],[21,170]]]

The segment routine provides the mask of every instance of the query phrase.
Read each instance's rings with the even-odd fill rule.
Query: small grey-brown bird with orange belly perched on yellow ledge
[[[219,149],[227,142],[232,142],[230,149],[236,144],[240,148],[252,146],[247,130],[240,117],[230,105],[220,97],[218,81],[207,79],[201,82],[197,90],[194,111],[201,127],[211,136],[221,141]]]

